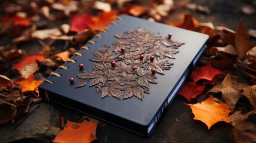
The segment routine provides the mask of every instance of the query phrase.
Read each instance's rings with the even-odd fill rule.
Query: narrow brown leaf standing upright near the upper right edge
[[[246,52],[248,52],[250,49],[249,35],[246,32],[242,20],[240,20],[238,26],[238,32],[235,38],[235,47],[236,51],[238,52],[238,60],[241,60],[243,57],[245,57]]]

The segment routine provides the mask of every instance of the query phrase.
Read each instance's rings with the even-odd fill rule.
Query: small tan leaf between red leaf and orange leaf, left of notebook
[[[21,76],[23,76],[24,79],[27,79],[29,76],[31,76],[31,74],[35,73],[35,71],[37,71],[38,69],[38,63],[36,63],[35,61],[30,64],[24,63],[21,67]]]

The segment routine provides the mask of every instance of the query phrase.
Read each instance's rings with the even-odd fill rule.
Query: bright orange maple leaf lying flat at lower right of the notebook
[[[208,126],[208,129],[220,121],[231,122],[229,118],[230,106],[227,104],[218,104],[212,96],[201,103],[186,105],[189,105],[192,109],[195,115],[194,120],[201,120]]]

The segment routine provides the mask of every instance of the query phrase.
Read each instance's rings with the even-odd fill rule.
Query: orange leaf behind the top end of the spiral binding
[[[111,10],[109,12],[102,11],[98,17],[93,17],[92,21],[88,23],[88,27],[92,31],[100,31],[107,26],[111,21],[115,20],[118,11]]]

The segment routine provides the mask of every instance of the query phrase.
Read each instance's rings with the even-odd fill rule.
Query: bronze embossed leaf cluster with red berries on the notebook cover
[[[80,79],[76,88],[96,86],[101,98],[115,97],[121,100],[137,97],[143,100],[144,93],[149,94],[149,83],[157,83],[155,74],[164,74],[173,63],[166,58],[175,58],[180,41],[162,38],[159,33],[150,30],[132,29],[118,38],[112,46],[105,45],[94,52],[93,70],[77,74]]]

